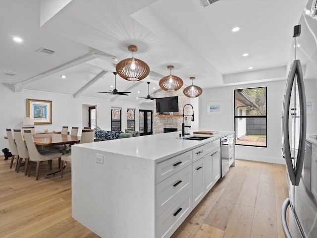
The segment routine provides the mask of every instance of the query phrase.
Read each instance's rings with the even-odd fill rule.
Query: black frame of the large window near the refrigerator
[[[237,116],[240,114],[239,107],[236,106],[236,91],[241,91],[245,89],[257,89],[257,88],[265,88],[265,116]],[[247,107],[247,106],[246,106]],[[241,121],[247,118],[264,118],[265,119],[265,146],[262,145],[248,145],[248,144],[237,144],[238,134],[237,134],[237,121],[238,119]],[[259,86],[259,87],[251,87],[251,88],[242,88],[242,89],[234,89],[234,131],[235,131],[235,145],[238,146],[250,146],[250,147],[260,147],[267,148],[267,86]]]

